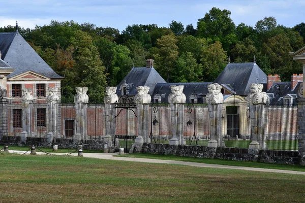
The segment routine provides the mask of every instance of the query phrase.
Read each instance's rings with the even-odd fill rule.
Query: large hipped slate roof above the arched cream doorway
[[[264,83],[266,74],[255,63],[228,63],[214,83],[229,84],[237,95],[248,95],[251,83]]]

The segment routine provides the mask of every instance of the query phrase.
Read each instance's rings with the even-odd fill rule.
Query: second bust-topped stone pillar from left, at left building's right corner
[[[47,134],[47,142],[51,143],[54,138],[57,137],[57,111],[58,111],[58,101],[59,97],[56,94],[58,91],[55,87],[49,87],[47,96],[47,111],[48,111],[48,134]]]

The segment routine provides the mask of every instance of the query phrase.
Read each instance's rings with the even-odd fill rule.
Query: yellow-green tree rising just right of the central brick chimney
[[[177,40],[174,35],[166,35],[157,40],[157,54],[155,58],[155,68],[163,78],[169,82],[175,72],[175,63],[178,58]]]

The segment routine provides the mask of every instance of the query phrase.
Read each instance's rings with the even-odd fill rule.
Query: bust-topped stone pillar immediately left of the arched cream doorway
[[[208,104],[208,116],[210,125],[210,141],[208,147],[218,147],[222,141],[222,103],[224,97],[221,93],[221,85],[218,83],[208,84],[208,93],[206,94],[206,103]],[[221,146],[224,146],[222,144]]]

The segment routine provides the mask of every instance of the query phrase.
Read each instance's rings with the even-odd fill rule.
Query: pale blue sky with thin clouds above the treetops
[[[172,20],[196,27],[212,7],[231,11],[236,26],[243,22],[254,27],[269,16],[287,27],[305,22],[304,0],[0,0],[0,5],[0,27],[15,26],[18,20],[20,27],[32,29],[51,20],[87,22],[119,31],[132,24],[168,27]]]

